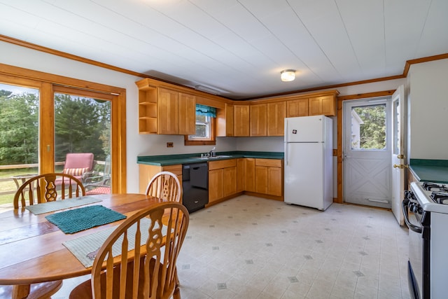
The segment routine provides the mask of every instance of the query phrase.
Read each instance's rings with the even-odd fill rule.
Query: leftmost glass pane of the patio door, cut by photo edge
[[[38,174],[39,90],[0,84],[0,205]]]

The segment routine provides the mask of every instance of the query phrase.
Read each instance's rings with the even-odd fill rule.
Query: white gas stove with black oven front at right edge
[[[411,298],[447,298],[448,184],[411,183],[402,207],[409,228]]]

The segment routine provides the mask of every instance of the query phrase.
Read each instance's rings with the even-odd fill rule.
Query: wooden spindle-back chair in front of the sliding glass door
[[[14,195],[14,209],[85,195],[83,183],[71,174],[40,174],[25,181]]]

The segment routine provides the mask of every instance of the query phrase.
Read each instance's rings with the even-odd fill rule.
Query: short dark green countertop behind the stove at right
[[[448,160],[411,159],[409,169],[419,181],[448,183]]]

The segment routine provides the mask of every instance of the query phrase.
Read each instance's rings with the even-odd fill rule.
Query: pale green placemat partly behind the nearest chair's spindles
[[[140,221],[140,230],[141,230],[141,244],[143,245],[146,243],[146,240],[148,239],[148,229],[151,225],[151,220],[148,218],[142,218]],[[78,237],[76,239],[71,239],[69,241],[66,241],[62,243],[64,246],[66,246],[71,253],[73,253],[73,256],[78,258],[78,260],[85,266],[85,267],[91,267],[93,265],[93,261],[95,259],[95,256],[97,256],[97,252],[99,247],[101,247],[104,244],[104,241],[111,235],[113,230],[115,230],[117,227],[114,228],[107,228],[106,230],[102,230],[100,232],[94,232],[90,235],[85,235],[83,237]],[[134,223],[129,230],[127,231],[127,239],[129,242],[130,250],[134,249],[135,244],[135,232],[137,230],[137,224]],[[162,233],[166,234],[166,227],[164,226],[162,228]],[[112,246],[112,255],[119,256],[121,254],[121,242],[122,242],[123,236],[118,238],[118,241]]]

